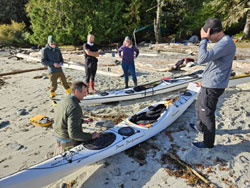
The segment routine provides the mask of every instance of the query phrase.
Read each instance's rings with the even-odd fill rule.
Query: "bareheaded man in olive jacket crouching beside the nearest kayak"
[[[57,105],[53,129],[57,139],[54,155],[65,151],[67,147],[74,147],[83,141],[99,137],[99,134],[84,133],[82,131],[82,109],[80,100],[87,95],[87,86],[83,82],[74,82],[71,87],[72,94],[66,96]]]

